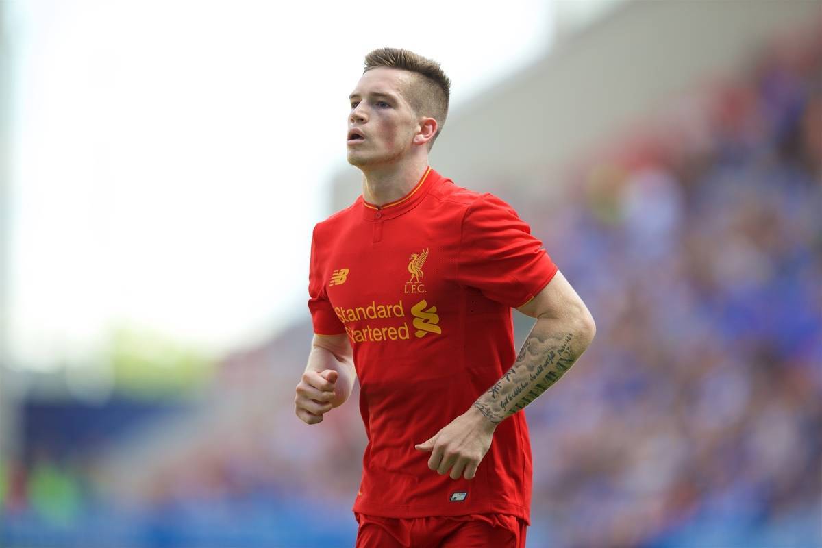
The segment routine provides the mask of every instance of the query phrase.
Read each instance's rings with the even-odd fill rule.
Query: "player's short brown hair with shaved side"
[[[396,68],[413,73],[405,99],[419,116],[436,120],[436,134],[428,144],[428,150],[440,135],[448,116],[451,81],[440,68],[440,63],[407,49],[379,48],[365,56],[363,74],[372,68]]]

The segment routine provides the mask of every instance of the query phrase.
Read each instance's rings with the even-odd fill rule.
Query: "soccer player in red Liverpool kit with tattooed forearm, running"
[[[595,329],[509,205],[428,166],[449,89],[439,64],[415,53],[367,55],[347,140],[363,196],[314,229],[315,336],[296,412],[322,421],[359,378],[362,548],[524,546],[531,453],[520,411]],[[537,318],[519,355],[512,307]]]

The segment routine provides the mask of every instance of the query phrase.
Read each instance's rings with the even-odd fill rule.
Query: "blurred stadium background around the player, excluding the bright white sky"
[[[0,546],[353,546],[358,408],[293,416],[307,311],[224,352],[129,329],[86,366],[16,352],[10,5]],[[822,2],[551,7],[550,44],[456,104],[432,154],[514,205],[597,319],[527,409],[528,546],[822,546]],[[309,229],[358,192],[328,178]]]

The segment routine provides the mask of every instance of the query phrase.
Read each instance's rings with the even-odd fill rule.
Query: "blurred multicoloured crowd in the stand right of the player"
[[[598,324],[528,408],[545,546],[822,546],[820,38],[673,103],[536,223]]]

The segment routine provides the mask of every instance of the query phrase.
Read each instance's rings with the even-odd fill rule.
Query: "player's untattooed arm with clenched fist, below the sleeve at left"
[[[294,398],[297,417],[307,424],[321,422],[349,398],[356,378],[348,335],[315,334]]]

